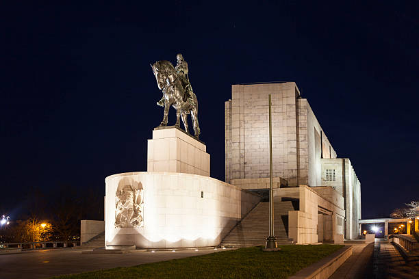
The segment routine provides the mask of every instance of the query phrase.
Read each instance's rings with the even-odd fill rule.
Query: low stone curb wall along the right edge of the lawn
[[[352,255],[352,246],[345,246],[317,263],[305,267],[288,279],[327,279]]]

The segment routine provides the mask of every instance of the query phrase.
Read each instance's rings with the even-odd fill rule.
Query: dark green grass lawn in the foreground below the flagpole
[[[281,251],[241,248],[177,260],[55,278],[287,278],[343,245],[281,245]]]

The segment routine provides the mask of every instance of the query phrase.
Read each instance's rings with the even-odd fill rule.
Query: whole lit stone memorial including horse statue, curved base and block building
[[[211,157],[199,140],[198,98],[183,55],[176,66],[164,60],[151,67],[162,92],[157,105],[164,109],[148,141],[147,171],[105,178],[104,224],[81,222],[82,243],[104,227],[106,250],[264,245],[269,95],[278,243],[359,237],[361,191],[351,161],[338,158],[295,83],[232,85],[225,102],[224,182],[210,177]],[[173,126],[170,107],[177,115]]]

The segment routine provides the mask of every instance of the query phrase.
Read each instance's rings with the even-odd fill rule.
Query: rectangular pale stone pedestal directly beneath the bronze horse
[[[147,172],[183,172],[210,176],[210,155],[203,142],[183,130],[155,128],[147,147]]]

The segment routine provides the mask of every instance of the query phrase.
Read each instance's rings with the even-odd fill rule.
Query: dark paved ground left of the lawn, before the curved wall
[[[216,252],[208,250],[132,252],[127,254],[82,254],[79,249],[25,251],[0,255],[1,279],[49,278],[98,269],[129,267],[175,258],[199,256]],[[218,250],[222,251],[222,250]]]

